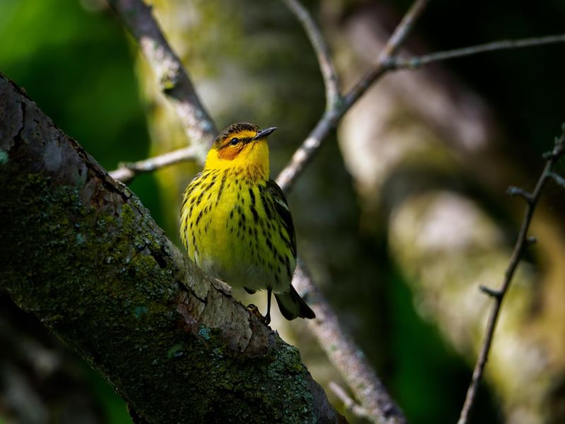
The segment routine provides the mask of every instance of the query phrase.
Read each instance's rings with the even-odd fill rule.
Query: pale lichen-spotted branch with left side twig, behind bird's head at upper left
[[[203,163],[218,131],[198,98],[179,57],[173,52],[153,18],[151,6],[142,0],[109,0],[109,4],[138,42],[141,52],[155,72],[162,93],[172,102],[192,147],[190,151],[183,148],[144,160],[143,163],[124,165],[113,172],[113,175],[123,177],[124,179],[120,179],[124,181],[149,167],[155,170],[194,158]]]

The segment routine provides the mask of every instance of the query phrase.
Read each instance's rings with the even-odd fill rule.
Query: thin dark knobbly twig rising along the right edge
[[[493,298],[494,303],[490,311],[489,321],[487,323],[487,331],[484,334],[479,357],[477,358],[477,363],[475,364],[475,370],[473,370],[472,373],[471,383],[467,391],[467,396],[465,397],[465,403],[463,404],[463,408],[461,409],[458,424],[468,423],[470,411],[472,410],[472,407],[475,403],[475,395],[477,394],[477,389],[479,388],[479,383],[484,372],[484,366],[487,364],[490,347],[492,345],[492,338],[494,336],[494,329],[496,328],[496,321],[499,317],[499,312],[502,301],[504,300],[504,295],[506,295],[507,291],[509,290],[509,286],[514,273],[516,272],[518,264],[521,261],[524,248],[530,244],[530,238],[528,237],[528,228],[530,227],[530,222],[532,220],[535,206],[537,206],[537,201],[539,201],[540,199],[540,195],[542,194],[542,190],[544,189],[547,180],[554,178],[554,172],[552,172],[554,163],[557,161],[557,159],[561,158],[561,156],[565,155],[565,124],[563,125],[562,131],[563,132],[561,134],[561,137],[555,140],[553,151],[547,155],[547,163],[545,164],[544,170],[542,171],[542,175],[540,175],[540,179],[537,180],[534,191],[529,196],[525,196],[525,199],[527,199],[527,201],[522,226],[520,232],[518,233],[518,240],[516,240],[516,245],[514,245],[509,266],[504,273],[504,280],[502,281],[500,288],[496,290],[484,287],[481,288],[483,293],[486,293]]]

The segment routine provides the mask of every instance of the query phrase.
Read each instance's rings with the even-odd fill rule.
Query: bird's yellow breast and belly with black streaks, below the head
[[[266,181],[242,169],[206,168],[189,185],[182,240],[210,275],[251,290],[287,290],[295,269],[292,237]]]

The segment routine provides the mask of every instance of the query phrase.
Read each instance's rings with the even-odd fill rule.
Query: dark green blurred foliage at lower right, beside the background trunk
[[[388,386],[410,423],[456,423],[470,370],[441,339],[438,329],[417,315],[402,274],[391,269],[389,276],[389,331],[395,358]],[[482,386],[472,422],[499,423],[500,414]]]

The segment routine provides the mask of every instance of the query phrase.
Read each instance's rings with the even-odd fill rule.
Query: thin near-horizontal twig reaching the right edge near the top
[[[418,69],[424,65],[431,64],[436,61],[447,59],[455,59],[457,57],[471,56],[480,53],[496,52],[500,50],[521,49],[524,47],[535,47],[541,45],[552,45],[559,42],[565,42],[565,34],[547,35],[545,37],[524,38],[521,40],[500,40],[487,42],[482,45],[463,47],[460,49],[446,50],[444,52],[436,52],[424,54],[422,56],[414,56],[409,58],[395,57],[389,62],[389,66],[393,69]]]

